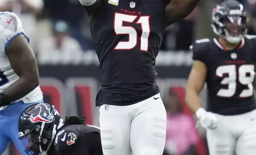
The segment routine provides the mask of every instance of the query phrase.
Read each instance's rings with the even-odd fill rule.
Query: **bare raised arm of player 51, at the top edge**
[[[199,2],[200,0],[171,0],[165,8],[168,24],[187,17]]]

